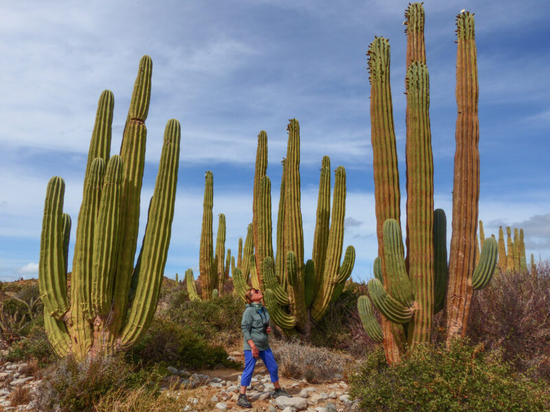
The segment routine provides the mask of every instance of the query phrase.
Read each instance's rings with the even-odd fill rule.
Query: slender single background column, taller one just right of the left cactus
[[[201,242],[199,250],[199,272],[201,274],[201,297],[207,300],[212,295],[212,271],[215,270],[212,245],[212,207],[214,207],[214,187],[212,172],[208,170],[204,176],[204,201],[202,214]]]

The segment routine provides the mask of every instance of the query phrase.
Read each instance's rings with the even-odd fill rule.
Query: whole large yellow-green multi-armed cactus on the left
[[[39,287],[48,339],[60,356],[126,350],[146,332],[157,306],[174,216],[179,122],[166,124],[147,226],[134,266],[151,58],[135,80],[120,155],[109,159],[113,93],[100,97],[78,214],[70,293],[67,252],[70,219],[63,214],[65,183],[47,185],[41,234]],[[69,297],[70,296],[70,297]]]

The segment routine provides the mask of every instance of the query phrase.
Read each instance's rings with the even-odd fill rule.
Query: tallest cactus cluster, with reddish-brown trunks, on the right
[[[369,47],[371,82],[371,140],[375,181],[378,258],[369,295],[382,312],[382,327],[366,297],[358,308],[369,336],[384,341],[388,362],[399,361],[406,345],[430,342],[432,315],[448,307],[448,332],[464,332],[471,290],[485,286],[494,272],[496,240],[483,244],[474,270],[479,191],[477,76],[474,19],[457,16],[459,27],[453,219],[447,263],[446,218],[434,211],[433,159],[430,134],[429,77],[426,66],[421,3],[406,10],[406,252],[401,236],[399,171],[390,87],[390,46],[377,37]],[[473,81],[466,81],[470,79]],[[449,291],[447,288],[449,287]]]

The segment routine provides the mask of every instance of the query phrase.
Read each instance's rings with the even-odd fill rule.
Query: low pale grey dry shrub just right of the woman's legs
[[[315,347],[299,341],[270,341],[275,359],[285,376],[299,378],[306,372],[311,379],[342,379],[344,369],[355,360],[349,354],[329,350],[326,347]],[[299,373],[298,373],[299,371]],[[307,377],[306,377],[307,378]]]

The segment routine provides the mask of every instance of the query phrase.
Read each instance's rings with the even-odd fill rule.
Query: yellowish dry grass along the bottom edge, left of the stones
[[[182,393],[172,390],[156,394],[148,387],[115,389],[100,398],[94,412],[181,412],[185,399]]]

